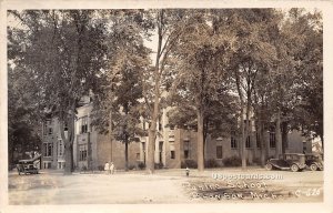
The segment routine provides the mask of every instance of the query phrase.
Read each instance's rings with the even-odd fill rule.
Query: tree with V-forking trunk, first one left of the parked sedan
[[[232,69],[241,102],[242,168],[246,168],[245,143],[251,133],[252,95],[256,87],[256,78],[265,74],[276,61],[276,50],[269,38],[270,34],[276,33],[280,19],[281,17],[273,9],[238,10],[230,19],[239,38]]]

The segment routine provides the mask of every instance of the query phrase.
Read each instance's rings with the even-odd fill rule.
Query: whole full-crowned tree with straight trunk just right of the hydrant
[[[216,26],[213,16],[196,10],[186,19],[186,33],[173,51],[178,60],[175,88],[183,99],[193,103],[198,126],[198,170],[204,170],[204,123],[209,124],[212,105],[226,97],[226,68],[233,52],[234,34]],[[223,32],[223,33],[222,33]]]

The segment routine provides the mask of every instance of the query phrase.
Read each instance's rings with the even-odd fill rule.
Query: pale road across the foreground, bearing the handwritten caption
[[[143,204],[205,202],[322,202],[323,172],[253,168],[104,173],[9,173],[9,204]]]

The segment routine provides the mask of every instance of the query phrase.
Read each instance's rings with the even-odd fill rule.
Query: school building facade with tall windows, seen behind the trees
[[[112,161],[117,169],[124,169],[124,144],[112,141],[109,135],[100,134],[91,125],[92,103],[85,103],[77,109],[75,138],[73,143],[73,161],[78,170],[99,170],[105,162]],[[154,161],[158,165],[169,169],[179,169],[186,160],[196,161],[196,132],[169,126],[167,109],[158,122]],[[140,124],[148,131],[148,123]],[[65,128],[65,126],[64,126]],[[67,129],[64,129],[67,134]],[[49,119],[43,124],[42,169],[64,168],[64,145],[60,135],[60,125],[57,119]],[[266,156],[275,155],[276,139],[273,131],[265,132],[264,143]],[[148,136],[141,136],[140,142],[129,144],[129,165],[138,168],[145,164]],[[312,151],[311,140],[293,131],[287,134],[286,153],[303,153]],[[229,136],[212,139],[208,136],[204,146],[205,160],[215,160],[223,166],[223,159],[240,156],[240,143],[234,132]],[[251,131],[246,140],[246,159],[255,162],[261,154],[261,148],[255,131]]]

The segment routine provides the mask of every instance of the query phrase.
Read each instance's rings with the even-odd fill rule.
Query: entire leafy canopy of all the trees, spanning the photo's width
[[[147,135],[140,122],[150,123],[151,171],[157,122],[168,106],[170,124],[198,131],[200,170],[206,135],[224,136],[234,129],[246,165],[251,129],[243,120],[255,120],[261,133],[275,122],[279,149],[281,134],[291,129],[320,135],[323,142],[323,27],[317,11],[23,10],[9,16],[20,23],[8,27],[10,153],[26,145],[24,139],[34,146],[36,126],[51,114],[69,124],[69,136],[62,132],[62,139],[70,162],[74,113],[83,95],[93,98],[93,125],[125,143],[125,150]],[[151,39],[154,50],[147,48]]]

